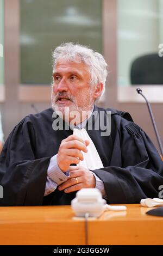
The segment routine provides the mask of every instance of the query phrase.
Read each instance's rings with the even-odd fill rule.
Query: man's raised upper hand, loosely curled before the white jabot
[[[89,141],[83,141],[76,135],[70,135],[66,139],[63,139],[57,155],[57,163],[62,172],[66,172],[70,164],[79,163],[83,161],[83,154],[81,151],[87,152],[87,145]]]

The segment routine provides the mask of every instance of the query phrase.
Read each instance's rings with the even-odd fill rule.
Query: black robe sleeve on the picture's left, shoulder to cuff
[[[42,204],[51,157],[35,159],[34,150],[35,131],[26,117],[10,133],[0,156],[1,206]]]

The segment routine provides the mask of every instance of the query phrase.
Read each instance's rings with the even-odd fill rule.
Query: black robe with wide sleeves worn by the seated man
[[[96,111],[104,111],[97,108]],[[153,143],[129,114],[111,111],[111,134],[88,130],[104,168],[93,172],[104,182],[108,203],[140,203],[158,197],[163,163]],[[53,109],[24,118],[10,133],[0,156],[1,206],[70,204],[76,192],[55,190],[44,197],[47,169],[62,139],[73,131],[54,131]],[[95,120],[96,121],[96,120]]]

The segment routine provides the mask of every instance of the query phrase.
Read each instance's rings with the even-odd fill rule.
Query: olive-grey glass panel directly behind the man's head
[[[20,1],[21,84],[50,84],[52,50],[79,42],[102,51],[102,1]]]

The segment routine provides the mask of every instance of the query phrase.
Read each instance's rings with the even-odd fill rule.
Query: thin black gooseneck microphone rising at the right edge
[[[155,120],[154,120],[154,116],[153,116],[153,113],[152,113],[151,105],[149,104],[149,102],[146,99],[145,95],[142,94],[142,90],[140,88],[136,88],[136,90],[137,90],[137,93],[139,93],[139,94],[141,94],[141,96],[143,96],[143,98],[145,99],[145,101],[147,103],[148,111],[149,111],[149,114],[150,114],[150,117],[151,117],[151,120],[152,120],[154,131],[155,131],[156,139],[157,139],[158,144],[159,144],[159,149],[160,149],[160,153],[161,153],[161,155],[160,155],[161,156],[161,160],[163,161],[162,143],[161,143],[161,139],[160,139],[160,136],[159,136],[158,129],[157,129],[156,124],[155,124]]]

